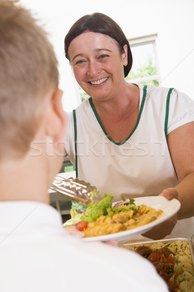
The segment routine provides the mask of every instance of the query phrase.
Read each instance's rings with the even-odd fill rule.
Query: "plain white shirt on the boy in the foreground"
[[[0,202],[0,291],[168,292],[134,252],[68,235],[60,214],[35,201]]]

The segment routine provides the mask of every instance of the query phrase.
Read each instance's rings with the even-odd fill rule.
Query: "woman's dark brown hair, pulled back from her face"
[[[112,37],[119,46],[120,53],[124,53],[124,45],[128,46],[128,64],[124,66],[125,77],[129,74],[132,66],[132,55],[129,41],[120,26],[110,17],[102,13],[88,14],[78,19],[68,31],[65,37],[65,56],[69,60],[68,48],[70,42],[85,31],[99,33]]]

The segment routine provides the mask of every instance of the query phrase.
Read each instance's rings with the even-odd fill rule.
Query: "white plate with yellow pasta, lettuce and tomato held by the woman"
[[[86,241],[117,239],[124,243],[171,218],[179,209],[178,200],[168,201],[162,196],[113,202],[110,194],[104,194],[101,201],[84,210],[72,208],[71,219],[64,226],[75,225],[86,234]]]

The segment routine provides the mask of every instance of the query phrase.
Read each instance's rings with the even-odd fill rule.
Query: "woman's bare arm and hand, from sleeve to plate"
[[[178,185],[167,188],[159,196],[181,203],[178,219],[194,216],[194,122],[185,124],[168,134],[168,147],[178,176]],[[143,234],[154,240],[169,235],[177,222],[177,214]]]

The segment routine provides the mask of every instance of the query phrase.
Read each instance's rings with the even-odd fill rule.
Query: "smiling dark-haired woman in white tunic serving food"
[[[178,219],[194,216],[194,101],[175,89],[127,83],[129,42],[101,13],[74,23],[65,56],[91,96],[68,119],[66,152],[79,179],[114,201],[178,196]],[[180,229],[184,237],[193,232]]]

